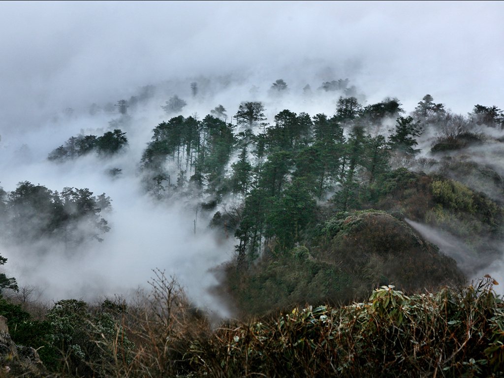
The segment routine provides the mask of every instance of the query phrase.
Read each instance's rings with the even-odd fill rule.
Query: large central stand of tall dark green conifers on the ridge
[[[234,125],[223,120],[225,111],[219,105],[203,120],[177,116],[160,123],[142,166],[158,197],[186,188],[214,204],[228,195],[244,200],[213,221],[235,231],[240,265],[253,262],[264,246],[300,242],[317,201],[330,199],[336,211],[375,202],[384,175],[414,160],[425,129],[437,133],[437,146],[456,141],[460,148],[462,138],[479,138],[477,125],[496,127],[503,119],[498,108],[481,105],[469,117],[456,116],[430,95],[411,115],[402,115],[397,99],[362,106],[355,97],[340,97],[333,116],[285,109],[272,125],[262,102],[242,102]],[[395,120],[393,129],[384,127],[386,119]]]

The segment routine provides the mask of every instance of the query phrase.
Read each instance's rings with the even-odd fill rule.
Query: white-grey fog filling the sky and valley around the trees
[[[391,96],[411,111],[429,93],[454,112],[502,108],[503,11],[500,2],[0,3],[0,185],[88,187],[113,207],[105,216],[111,231],[82,259],[34,264],[3,250],[8,272],[48,298],[89,298],[142,285],[157,267],[212,306],[207,271],[231,258],[234,241],[207,230],[211,214],[200,214],[195,238],[190,201],[154,205],[137,175],[152,129],[166,119],[160,106],[176,93],[188,103],[184,115],[223,104],[230,117],[256,98],[270,120],[284,108],[332,114],[339,94],[317,88],[348,78],[364,104]],[[289,93],[268,97],[279,78]],[[195,98],[192,81],[200,85]],[[302,95],[306,84],[312,96]],[[69,137],[107,131],[118,117],[91,117],[92,103],[114,104],[146,85],[157,92],[131,113],[127,154],[106,166],[92,155],[46,160]],[[117,180],[105,174],[113,167],[123,170]]]

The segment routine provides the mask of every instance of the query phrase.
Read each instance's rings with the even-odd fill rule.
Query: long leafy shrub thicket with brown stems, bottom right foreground
[[[504,306],[492,281],[409,296],[383,286],[363,303],[225,324],[187,358],[199,376],[500,376]]]

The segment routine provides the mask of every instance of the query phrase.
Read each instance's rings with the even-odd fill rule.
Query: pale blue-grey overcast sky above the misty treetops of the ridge
[[[396,96],[407,110],[426,93],[456,112],[502,108],[502,16],[503,2],[481,1],[2,2],[1,128],[229,73],[348,77],[370,101]]]

